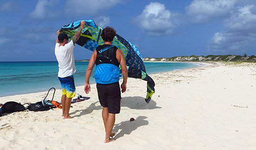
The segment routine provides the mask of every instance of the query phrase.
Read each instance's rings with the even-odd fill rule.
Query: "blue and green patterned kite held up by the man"
[[[101,38],[101,32],[103,28],[97,26],[94,20],[84,20],[86,25],[84,26],[81,36],[76,44],[94,51],[97,46],[103,45],[104,41]],[[69,39],[73,39],[74,34],[78,31],[80,22],[76,21],[66,26],[62,26],[60,32],[67,33]],[[122,38],[120,35],[116,35],[112,45],[118,47],[124,54],[126,65],[128,68],[128,77],[141,78],[147,82],[147,97],[145,101],[149,103],[153,93],[155,93],[155,82],[146,73],[145,65],[141,57],[140,52],[132,43]]]

